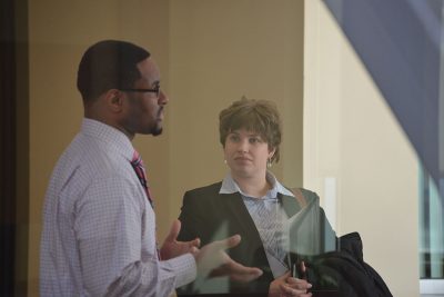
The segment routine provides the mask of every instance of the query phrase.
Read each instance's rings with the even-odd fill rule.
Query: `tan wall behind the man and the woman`
[[[160,238],[178,216],[184,190],[223,177],[216,117],[242,95],[278,102],[284,143],[273,170],[289,186],[301,185],[302,1],[29,1],[29,296],[38,295],[48,179],[82,118],[77,67],[98,40],[149,48],[170,95],[164,133],[134,140],[149,167]]]

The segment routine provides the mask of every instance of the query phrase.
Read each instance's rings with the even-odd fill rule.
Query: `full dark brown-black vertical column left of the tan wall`
[[[0,296],[27,295],[29,226],[28,68],[28,2],[26,0],[1,0]]]

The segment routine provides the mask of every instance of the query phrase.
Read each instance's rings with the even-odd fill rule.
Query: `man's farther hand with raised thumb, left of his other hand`
[[[178,241],[178,235],[180,232],[181,221],[174,220],[171,225],[170,234],[163,241],[162,248],[160,249],[160,257],[162,260],[168,260],[174,257],[179,257],[183,254],[191,253],[196,254],[201,240],[199,238],[191,241]]]

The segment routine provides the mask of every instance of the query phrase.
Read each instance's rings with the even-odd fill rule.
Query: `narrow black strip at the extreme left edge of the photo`
[[[0,1],[0,295],[14,293],[16,67],[13,0]]]

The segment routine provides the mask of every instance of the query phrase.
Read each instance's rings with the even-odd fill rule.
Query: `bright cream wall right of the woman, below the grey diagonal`
[[[393,295],[416,297],[416,156],[319,0],[305,1],[304,69],[304,186],[324,198],[334,178],[336,230],[359,231],[365,260]]]

